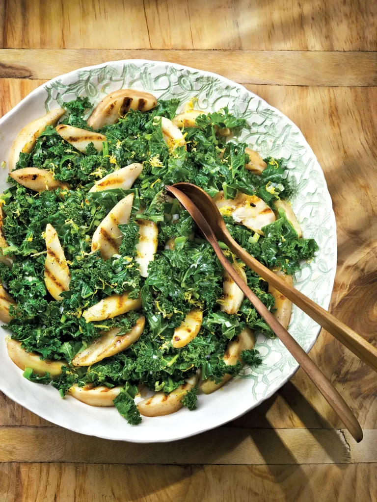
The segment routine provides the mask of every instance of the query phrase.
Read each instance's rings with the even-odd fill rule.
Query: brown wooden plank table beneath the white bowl
[[[377,3],[374,0],[0,0],[0,106],[46,80],[126,58],[220,73],[302,130],[338,225],[331,310],[375,343]],[[56,427],[0,394],[0,502],[377,500],[376,375],[322,331],[311,356],[364,429],[342,429],[299,370],[244,417],[137,445]]]

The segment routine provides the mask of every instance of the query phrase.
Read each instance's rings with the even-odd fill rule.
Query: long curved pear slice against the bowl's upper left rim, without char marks
[[[42,117],[28,123],[15,139],[11,153],[8,158],[9,170],[13,171],[19,160],[20,153],[30,153],[37,141],[37,138],[43,133],[47,126],[55,126],[59,118],[65,113],[63,108],[51,110]]]

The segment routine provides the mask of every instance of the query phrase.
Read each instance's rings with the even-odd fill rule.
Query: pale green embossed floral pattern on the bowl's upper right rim
[[[331,198],[322,169],[300,130],[285,115],[243,86],[217,75],[169,63],[116,61],[99,68],[78,72],[78,80],[57,79],[46,86],[46,109],[56,102],[86,95],[97,104],[106,94],[122,88],[151,92],[161,99],[177,97],[181,106],[195,98],[195,107],[214,111],[228,106],[247,120],[248,128],[233,141],[244,141],[261,153],[287,159],[288,176],[296,186],[291,199],[304,236],[314,237],[320,247],[311,263],[296,275],[296,288],[327,308],[336,269],[336,227]],[[290,332],[309,351],[319,326],[294,306]],[[256,369],[243,370],[241,378],[253,380],[252,395],[260,401],[287,381],[298,365],[279,340],[257,337],[263,362]]]

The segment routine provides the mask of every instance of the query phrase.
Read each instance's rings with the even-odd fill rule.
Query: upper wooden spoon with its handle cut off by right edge
[[[336,319],[336,317],[317,305],[303,293],[282,281],[276,274],[267,269],[267,267],[264,267],[258,260],[246,253],[245,249],[238,245],[232,238],[225,226],[219,209],[204,190],[191,183],[176,183],[174,187],[185,193],[194,202],[197,208],[205,214],[206,220],[213,229],[218,240],[225,242],[235,255],[241,258],[246,265],[267,281],[268,284],[280,291],[280,293],[291,300],[351,352],[357,355],[359,359],[364,361],[369,367],[374,369],[374,371],[377,371],[377,348],[373,347],[373,345],[367,342],[362,336],[358,335],[351,328]]]

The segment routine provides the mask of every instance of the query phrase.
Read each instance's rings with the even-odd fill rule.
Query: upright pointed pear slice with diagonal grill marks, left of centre
[[[46,249],[45,285],[55,300],[62,300],[60,295],[69,290],[71,276],[58,234],[50,223],[46,225]]]

